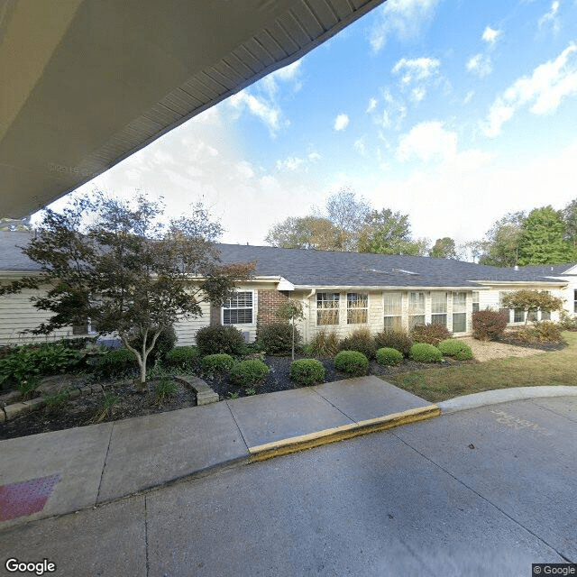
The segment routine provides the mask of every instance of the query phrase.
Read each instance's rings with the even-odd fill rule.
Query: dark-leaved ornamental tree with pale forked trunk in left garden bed
[[[214,240],[222,229],[202,205],[168,224],[162,215],[163,206],[142,195],[132,206],[97,194],[60,214],[48,209],[36,238],[23,248],[41,264],[41,276],[15,281],[0,294],[48,285],[34,307],[52,316],[32,333],[90,319],[99,334],[118,334],[133,352],[144,388],[146,360],[162,330],[200,316],[203,301],[222,305],[253,268],[220,264]]]

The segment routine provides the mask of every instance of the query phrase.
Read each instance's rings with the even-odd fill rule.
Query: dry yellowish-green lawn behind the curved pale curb
[[[431,402],[480,393],[483,390],[542,385],[577,386],[577,333],[564,332],[563,351],[510,357],[444,369],[401,372],[398,387]],[[383,377],[390,380],[390,377]]]

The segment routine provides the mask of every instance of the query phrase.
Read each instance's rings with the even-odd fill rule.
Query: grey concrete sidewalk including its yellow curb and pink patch
[[[0,530],[439,414],[371,376],[1,441]]]

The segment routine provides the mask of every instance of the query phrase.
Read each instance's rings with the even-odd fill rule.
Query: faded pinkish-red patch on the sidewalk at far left
[[[58,481],[56,474],[0,487],[0,521],[41,511]]]

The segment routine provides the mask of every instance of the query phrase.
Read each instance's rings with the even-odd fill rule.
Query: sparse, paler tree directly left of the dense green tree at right
[[[495,267],[513,267],[518,263],[521,229],[525,213],[508,213],[493,224],[481,243],[483,254],[480,264]]]

